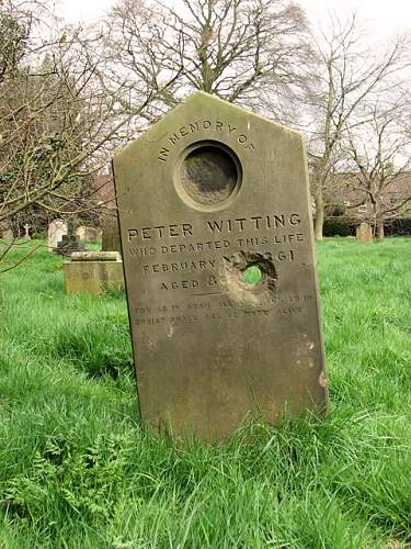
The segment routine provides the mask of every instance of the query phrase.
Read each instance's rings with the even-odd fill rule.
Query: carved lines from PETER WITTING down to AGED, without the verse
[[[251,215],[233,220],[204,220],[204,227],[199,227],[198,235],[204,236],[203,228],[205,228],[210,236],[226,236],[222,239],[210,240],[196,239],[195,229],[189,222],[128,228],[125,253],[130,256],[150,258],[150,262],[141,262],[140,269],[145,274],[159,276],[160,290],[199,288],[201,283],[196,278],[185,280],[178,277],[179,274],[192,276],[202,271],[210,273],[206,279],[206,284],[215,285],[215,274],[220,270],[221,261],[229,261],[224,255],[224,250],[232,245],[249,251],[253,248],[264,247],[263,255],[272,261],[294,261],[296,254],[294,247],[286,246],[285,249],[279,250],[276,247],[279,244],[293,245],[302,242],[304,235],[299,232],[284,233],[278,229],[296,229],[300,222],[298,213]],[[246,234],[242,234],[243,232]],[[232,233],[235,238],[228,239],[228,235]],[[164,239],[174,238],[179,240],[175,244],[161,244]],[[187,254],[195,254],[196,257],[187,260]],[[172,256],[171,260],[168,257],[170,255]],[[175,255],[183,257],[176,260]],[[157,258],[157,256],[161,257]],[[169,273],[176,273],[175,280],[161,280],[161,274]]]

